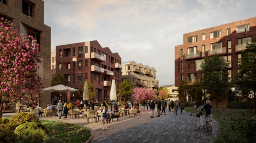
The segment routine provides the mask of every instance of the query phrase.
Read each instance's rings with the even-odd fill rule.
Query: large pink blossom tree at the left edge
[[[28,35],[17,35],[13,23],[0,21],[0,118],[18,100],[36,102],[42,83],[37,75],[41,62],[36,57],[39,45]]]

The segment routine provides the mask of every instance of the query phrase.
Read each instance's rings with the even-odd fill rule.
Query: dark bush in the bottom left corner
[[[0,124],[0,142],[15,142],[14,129],[15,126],[10,123]]]

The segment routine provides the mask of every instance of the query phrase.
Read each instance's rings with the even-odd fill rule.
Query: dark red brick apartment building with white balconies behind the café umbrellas
[[[51,60],[52,77],[63,74],[67,86],[79,89],[82,82],[90,81],[96,92],[94,102],[109,100],[112,80],[116,87],[121,82],[121,57],[112,53],[109,47],[102,48],[97,40],[56,46]],[[67,102],[73,94],[77,97],[78,93],[67,93]]]

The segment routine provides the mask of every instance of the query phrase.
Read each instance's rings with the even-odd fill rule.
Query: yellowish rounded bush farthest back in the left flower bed
[[[18,127],[22,123],[27,123],[27,122],[36,122],[36,123],[41,123],[41,121],[38,119],[38,117],[35,114],[31,113],[19,113],[18,115],[14,115],[11,117],[10,122],[16,127]]]

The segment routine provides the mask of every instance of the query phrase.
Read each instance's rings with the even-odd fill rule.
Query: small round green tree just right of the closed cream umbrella
[[[133,94],[133,85],[130,80],[123,80],[118,86],[117,94],[122,95],[124,101],[126,97],[129,97]]]

